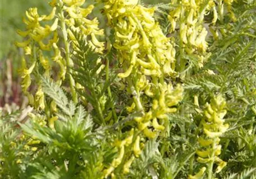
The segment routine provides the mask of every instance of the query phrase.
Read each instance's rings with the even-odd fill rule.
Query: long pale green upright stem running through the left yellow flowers
[[[65,16],[64,16],[64,12],[63,12],[62,0],[60,0],[60,8],[61,8],[60,21],[61,21],[61,29],[62,29],[62,34],[63,34],[63,42],[65,44],[65,55],[66,55],[66,63],[67,63],[68,80],[69,80],[69,84],[70,84],[72,99],[73,99],[74,103],[77,103],[78,101],[77,101],[77,94],[76,94],[76,90],[75,90],[75,81],[71,75],[72,62],[70,59],[70,44],[69,44],[68,38],[67,38],[67,30],[66,30]]]

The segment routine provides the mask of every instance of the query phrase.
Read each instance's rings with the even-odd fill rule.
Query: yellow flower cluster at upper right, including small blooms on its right
[[[227,4],[228,12],[230,12],[230,16],[234,20],[235,16],[231,10],[232,1],[224,2]],[[189,55],[196,55],[198,58],[198,67],[202,68],[203,63],[211,55],[207,53],[208,44],[206,37],[208,32],[204,25],[204,16],[212,13],[213,19],[211,25],[215,25],[218,18],[222,21],[224,11],[223,1],[219,0],[216,3],[213,0],[207,2],[203,0],[173,0],[171,4],[175,4],[177,7],[173,8],[168,16],[171,23],[170,32],[175,31],[176,28],[180,29],[180,49],[182,53],[186,52]],[[212,27],[210,27],[210,30],[214,38],[217,38],[218,32]],[[185,49],[185,52],[182,49]]]

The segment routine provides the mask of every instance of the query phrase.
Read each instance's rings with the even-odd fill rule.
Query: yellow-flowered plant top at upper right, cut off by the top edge
[[[234,12],[232,11],[233,1],[171,1],[171,11],[168,15],[170,21],[170,33],[179,30],[179,62],[178,69],[181,73],[180,77],[185,78],[185,73],[191,65],[202,68],[211,56],[208,52],[208,43],[206,40],[208,31],[211,31],[214,39],[218,39],[218,31],[215,29],[216,22],[223,23],[225,18],[225,7],[229,12],[232,21],[236,21]],[[205,16],[212,14],[212,20],[205,23]],[[226,36],[226,30],[220,29],[221,34]],[[188,61],[186,55],[193,56],[195,60]],[[186,67],[186,63],[189,63]],[[193,64],[191,64],[193,63]],[[187,69],[186,69],[187,68]]]

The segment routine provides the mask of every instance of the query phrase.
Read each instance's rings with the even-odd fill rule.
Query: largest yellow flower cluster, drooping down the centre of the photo
[[[167,125],[167,114],[175,112],[182,99],[183,89],[180,85],[173,88],[164,81],[175,72],[175,48],[154,20],[154,8],[145,8],[138,1],[103,1],[108,23],[115,30],[113,48],[117,49],[117,59],[124,72],[118,77],[127,82],[127,91],[133,96],[133,103],[127,112],[141,112],[135,117],[138,131],[148,138],[155,138]],[[144,107],[145,101],[152,101],[152,106]],[[141,153],[140,136],[132,144],[135,157]],[[120,148],[120,154],[122,154]],[[132,158],[125,164],[130,166]],[[119,157],[117,159],[120,159]],[[115,162],[114,159],[113,162]],[[115,166],[108,168],[105,177],[110,175]]]

